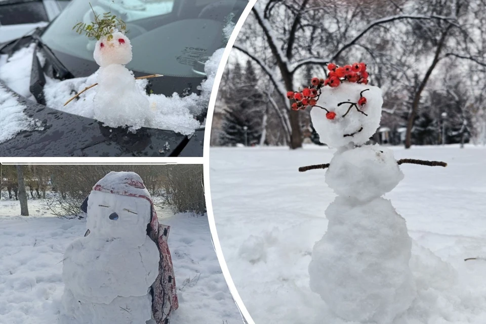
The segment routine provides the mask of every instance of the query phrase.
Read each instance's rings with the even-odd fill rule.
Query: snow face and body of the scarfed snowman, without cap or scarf
[[[91,192],[90,233],[64,254],[62,305],[68,322],[129,324],[152,318],[150,287],[160,257],[146,232],[150,208],[143,198]]]

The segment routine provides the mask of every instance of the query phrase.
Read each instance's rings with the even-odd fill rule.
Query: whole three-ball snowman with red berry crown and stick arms
[[[446,163],[396,161],[391,150],[365,145],[380,125],[382,91],[368,85],[364,63],[328,69],[327,79],[312,78],[287,94],[292,109],[312,107],[321,141],[337,149],[330,163],[299,168],[327,169],[326,183],[337,194],[325,212],[327,232],[313,247],[310,288],[344,320],[390,324],[417,292],[406,221],[382,196],[403,179],[400,164]]]

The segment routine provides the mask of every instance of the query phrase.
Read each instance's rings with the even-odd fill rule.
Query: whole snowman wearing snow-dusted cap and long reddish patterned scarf
[[[178,300],[167,245],[150,194],[134,172],[110,172],[88,196],[88,230],[66,249],[66,323],[167,324]]]

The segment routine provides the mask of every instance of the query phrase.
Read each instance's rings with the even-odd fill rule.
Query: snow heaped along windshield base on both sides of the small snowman
[[[205,73],[207,80],[203,81],[198,89],[201,94],[191,94],[189,96],[180,97],[177,92],[171,97],[164,95],[145,95],[150,103],[150,109],[147,114],[154,116],[148,118],[146,124],[132,125],[131,120],[126,120],[123,115],[113,117],[110,120],[100,120],[101,122],[109,122],[110,125],[125,126],[130,125],[130,129],[135,131],[140,127],[150,127],[158,129],[167,129],[179,132],[185,135],[192,134],[194,130],[201,126],[201,124],[194,118],[201,114],[208,108],[209,98],[214,83],[216,71],[221,60],[224,49],[216,51],[213,56],[205,64]],[[93,100],[96,95],[96,87],[85,91],[66,106],[64,103],[79,91],[97,82],[98,72],[84,78],[74,78],[64,81],[46,78],[46,85],[44,87],[44,96],[48,107],[65,111],[71,114],[76,114],[88,118],[94,118]],[[145,94],[146,79],[137,80],[140,92]],[[114,89],[116,90],[116,89]],[[155,111],[155,113],[154,113]]]

